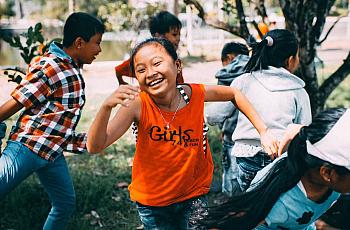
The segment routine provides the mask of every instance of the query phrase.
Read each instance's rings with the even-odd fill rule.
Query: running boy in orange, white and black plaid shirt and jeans
[[[86,134],[75,133],[85,104],[80,68],[101,52],[103,33],[95,17],[71,14],[63,44],[52,43],[0,107],[0,122],[24,107],[0,157],[0,199],[35,172],[52,204],[44,229],[65,229],[75,208],[63,151],[86,151]]]

